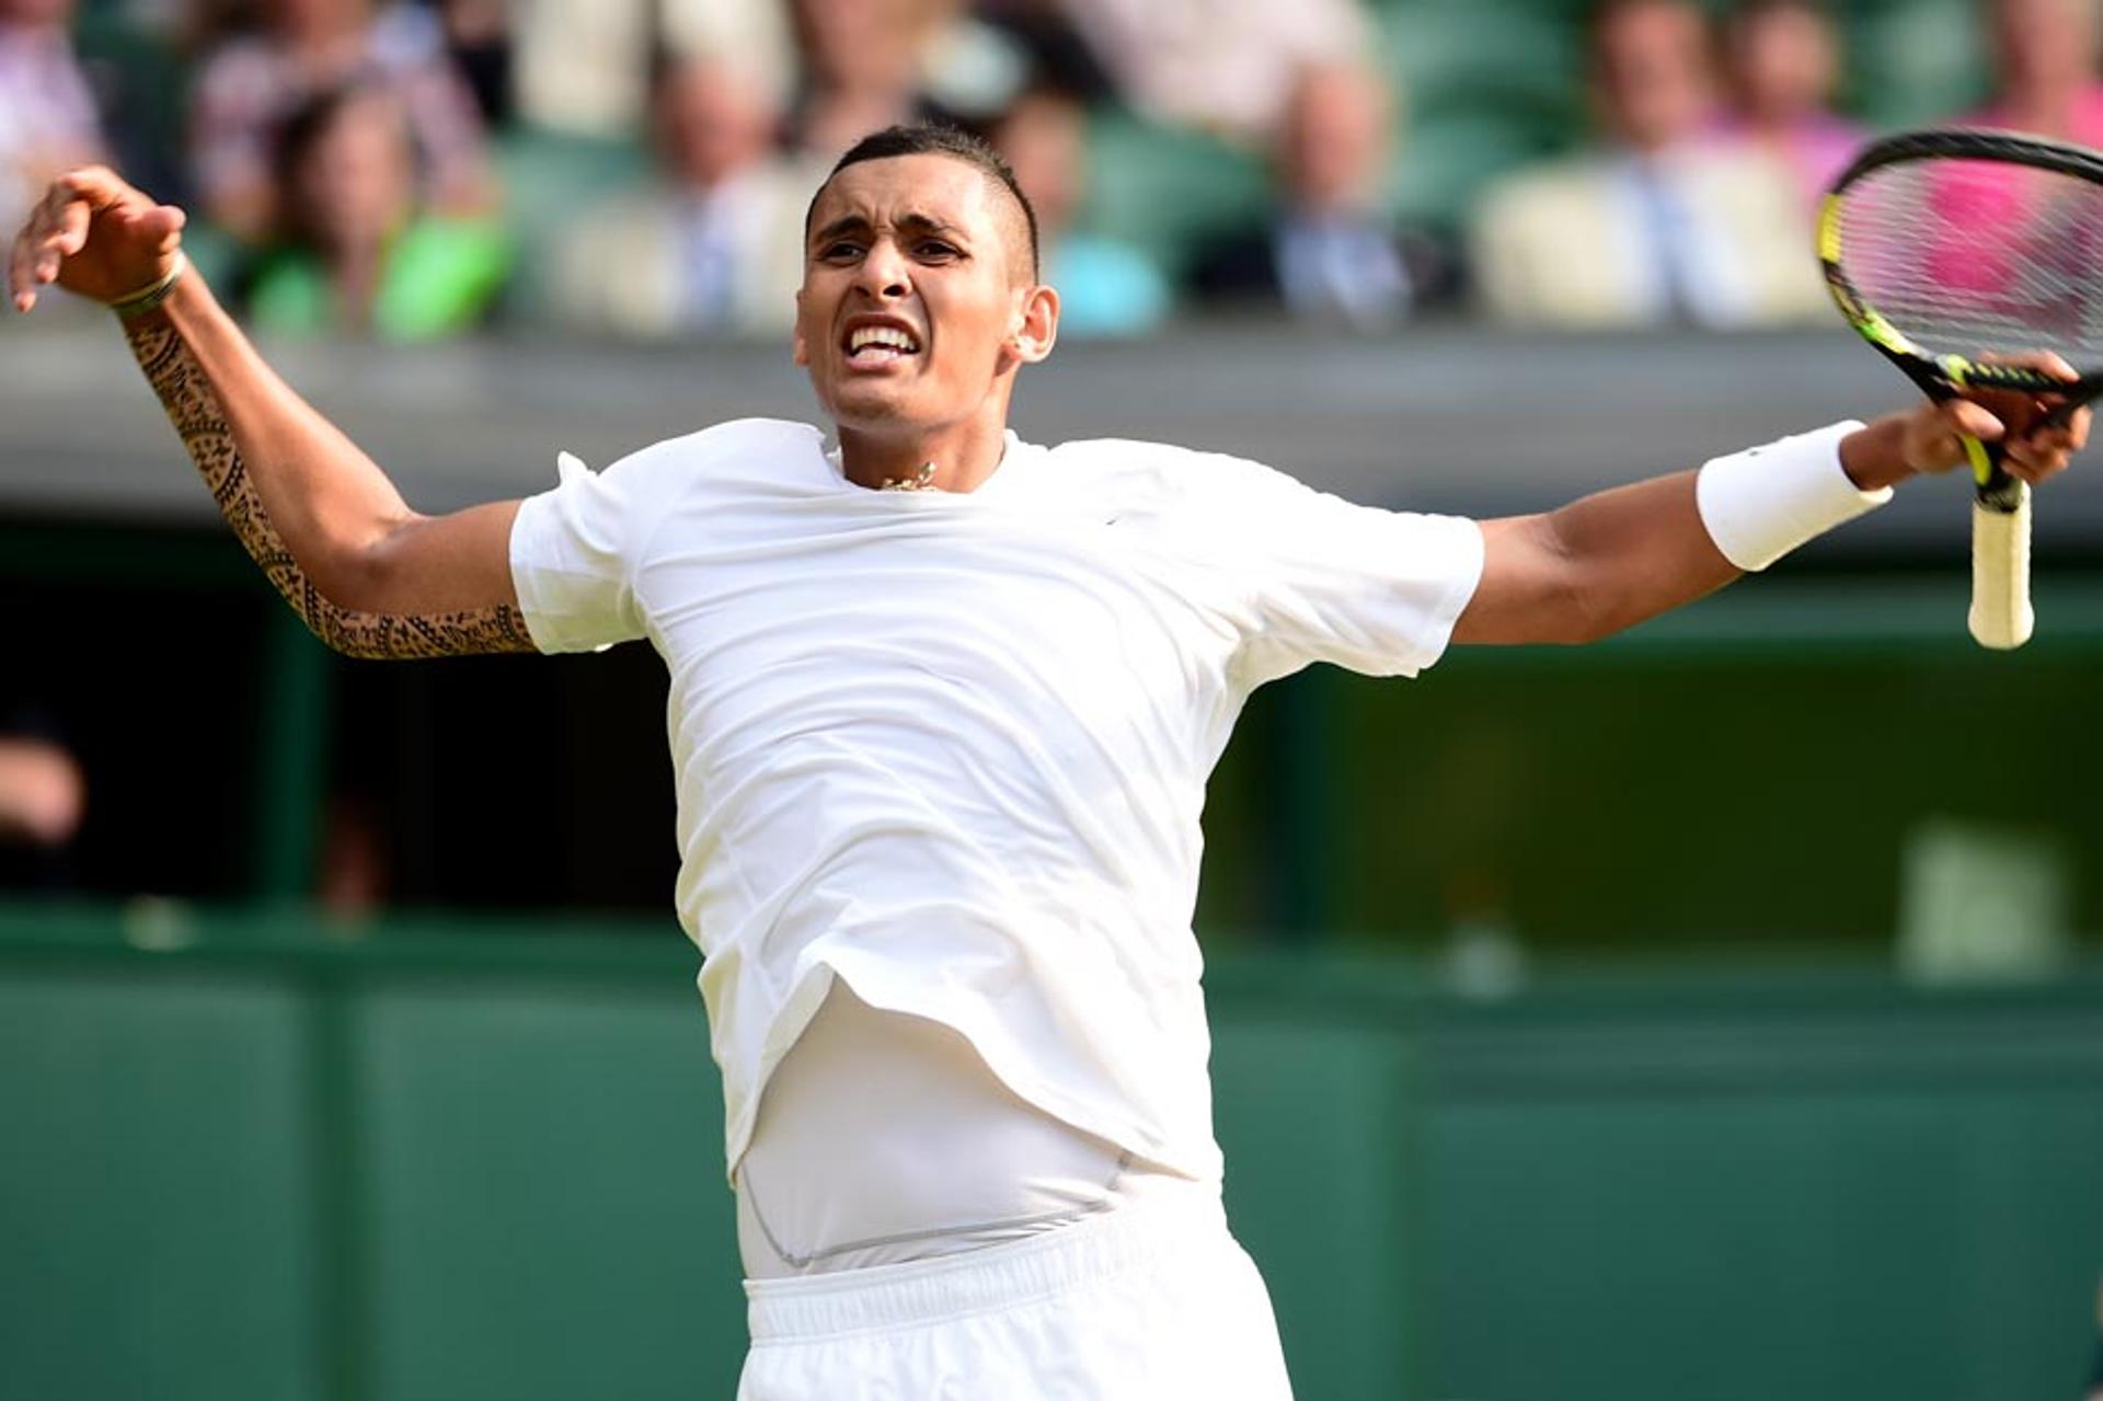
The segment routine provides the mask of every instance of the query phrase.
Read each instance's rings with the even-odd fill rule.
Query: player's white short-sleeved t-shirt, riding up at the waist
[[[1436,661],[1481,570],[1474,522],[1232,456],[1009,433],[974,492],[877,492],[772,419],[566,469],[511,532],[540,650],[648,637],[671,669],[677,907],[732,1170],[839,974],[1216,1180],[1205,778],[1258,684]]]

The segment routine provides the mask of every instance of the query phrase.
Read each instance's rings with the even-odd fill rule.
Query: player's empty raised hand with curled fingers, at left
[[[93,301],[149,288],[175,269],[183,221],[183,210],[156,204],[107,166],[67,170],[15,236],[8,297],[27,311],[53,282]]]

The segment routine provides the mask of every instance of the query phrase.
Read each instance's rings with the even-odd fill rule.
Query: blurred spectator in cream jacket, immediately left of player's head
[[[776,156],[780,111],[747,69],[688,59],[658,80],[660,179],[585,221],[549,301],[627,337],[780,334],[803,280],[803,206],[822,172]]]

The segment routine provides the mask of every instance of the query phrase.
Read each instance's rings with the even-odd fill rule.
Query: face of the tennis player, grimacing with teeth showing
[[[938,429],[1041,360],[1020,210],[948,156],[848,166],[812,210],[795,360],[841,427]]]

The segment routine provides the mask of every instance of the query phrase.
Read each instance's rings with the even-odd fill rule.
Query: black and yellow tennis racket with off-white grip
[[[1819,263],[1849,324],[1937,402],[2050,395],[2055,423],[2103,393],[2103,154],[1989,130],[1884,137],[1825,196]],[[2057,351],[2080,379],[1994,362],[2025,351]],[[2019,648],[2036,623],[2029,486],[2000,444],[1966,438],[1964,452],[1971,633]]]

